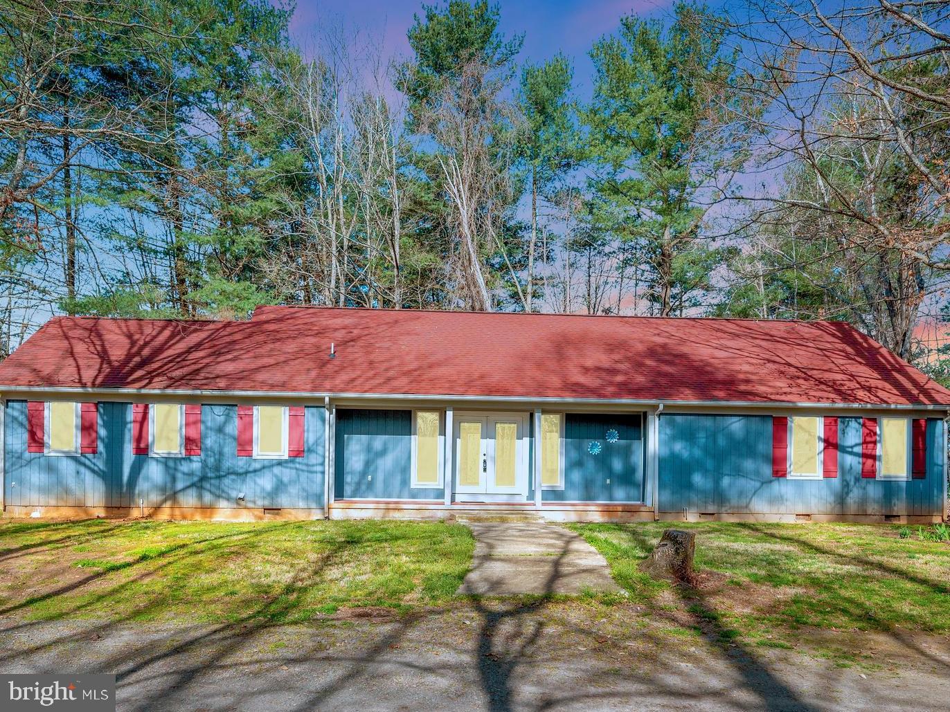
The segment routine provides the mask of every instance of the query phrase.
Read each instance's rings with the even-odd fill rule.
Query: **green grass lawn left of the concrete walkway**
[[[459,587],[474,542],[440,522],[0,523],[0,614],[308,620]]]

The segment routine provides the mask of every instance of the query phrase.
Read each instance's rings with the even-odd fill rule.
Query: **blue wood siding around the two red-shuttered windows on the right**
[[[838,477],[771,476],[769,416],[664,414],[659,421],[661,512],[939,515],[943,422],[927,420],[927,475],[861,478],[861,418],[838,421]]]

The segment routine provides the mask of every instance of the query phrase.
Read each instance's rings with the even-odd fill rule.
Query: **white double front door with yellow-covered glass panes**
[[[455,418],[455,491],[527,494],[527,435],[523,413],[459,413]]]

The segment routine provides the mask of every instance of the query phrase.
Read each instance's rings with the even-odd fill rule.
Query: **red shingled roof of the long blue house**
[[[55,318],[0,364],[3,386],[950,404],[839,322],[292,307],[249,322]]]

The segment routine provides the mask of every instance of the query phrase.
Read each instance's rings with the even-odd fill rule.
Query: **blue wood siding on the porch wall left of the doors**
[[[337,499],[443,499],[412,487],[412,411],[336,409]]]

